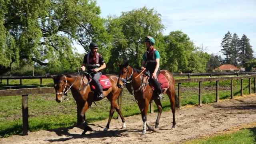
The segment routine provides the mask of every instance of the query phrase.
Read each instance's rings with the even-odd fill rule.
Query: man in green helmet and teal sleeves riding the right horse
[[[144,69],[144,65],[147,63],[146,70],[150,72],[150,83],[154,86],[157,99],[162,98],[162,88],[158,82],[158,76],[160,74],[160,54],[158,50],[154,48],[155,39],[152,36],[145,38],[147,51],[143,54],[141,69]]]

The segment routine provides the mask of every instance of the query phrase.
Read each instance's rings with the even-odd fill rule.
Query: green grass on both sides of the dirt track
[[[40,81],[38,82],[34,80],[22,81],[22,84],[40,84]],[[2,84],[4,85],[4,81]],[[17,85],[17,82],[13,80],[9,81],[9,84]],[[52,79],[43,80],[43,84],[52,84]],[[214,87],[215,85],[215,82],[203,82],[202,84],[203,87]],[[240,85],[240,80],[234,81],[234,96],[240,96]],[[230,81],[220,82],[220,86],[230,87]],[[198,105],[198,83],[184,83],[182,84],[182,88],[184,88],[181,93],[182,106]],[[249,94],[248,80],[244,80],[244,94]],[[230,90],[223,90],[219,97],[220,99],[230,98]],[[207,89],[203,90],[203,104],[215,101],[215,91],[209,91]],[[2,96],[0,97],[0,102],[0,138],[22,133],[21,96]],[[108,102],[107,99],[104,99],[96,102],[96,104],[97,106],[92,104],[92,106],[86,112],[86,121],[88,123],[105,120],[108,118],[110,102]],[[164,96],[162,106],[164,111],[170,110],[170,102],[167,96]],[[68,93],[68,96],[64,98],[62,103],[57,103],[55,101],[55,94],[29,95],[28,109],[30,116],[29,130],[31,132],[68,127],[76,124],[76,103],[74,102],[70,92]],[[154,111],[157,111],[156,106],[154,106]],[[136,104],[136,101],[134,100],[134,97],[128,93],[126,89],[124,89],[122,96],[122,113],[125,117],[140,114],[140,110]],[[115,112],[113,118],[116,117],[117,113]],[[254,134],[251,133],[252,131],[254,131]],[[251,141],[251,136],[254,136],[255,138],[255,128],[251,128],[249,131],[246,129],[242,132],[239,131],[237,137],[239,137],[239,135],[245,135],[244,133],[246,133],[246,136],[248,135],[249,141]],[[228,138],[229,136],[226,137]],[[207,140],[204,144],[208,144]],[[214,138],[211,139],[210,142],[213,140]],[[255,139],[252,142],[255,142]]]

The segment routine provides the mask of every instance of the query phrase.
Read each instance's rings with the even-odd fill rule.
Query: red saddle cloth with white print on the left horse
[[[92,76],[89,73],[86,74],[86,77],[87,77],[87,79],[89,81],[92,80]],[[103,74],[101,75],[99,81],[100,81],[100,85],[102,86],[103,90],[107,89],[107,88],[110,88],[112,86],[112,84],[111,84],[110,80],[108,79],[108,77],[103,75]],[[94,82],[90,82],[90,88],[93,91],[96,90]]]

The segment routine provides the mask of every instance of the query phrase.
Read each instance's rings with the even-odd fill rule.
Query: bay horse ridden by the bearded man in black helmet
[[[94,100],[94,92],[92,89],[95,87],[90,83],[90,78],[87,76],[88,73],[80,74],[80,72],[79,74],[59,74],[55,77],[52,76],[54,81],[54,88],[56,91],[56,102],[62,102],[64,94],[66,94],[68,90],[71,90],[72,96],[77,105],[77,126],[84,129],[82,134],[85,134],[87,131],[92,131],[92,128],[88,126],[85,120],[85,112],[88,110],[89,106],[91,106],[92,102],[98,101]],[[124,116],[122,115],[122,112],[116,103],[118,96],[122,94],[122,89],[118,88],[117,86],[118,77],[112,74],[102,74],[100,83],[102,84],[102,82],[108,86],[108,88],[103,87],[103,96],[104,98],[108,98],[110,101],[108,124],[104,130],[108,130],[110,121],[114,114],[114,110],[118,112],[122,119],[122,128],[126,128]]]

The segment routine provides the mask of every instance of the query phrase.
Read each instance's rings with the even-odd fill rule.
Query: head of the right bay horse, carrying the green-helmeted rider
[[[118,72],[118,88],[123,88],[124,84],[128,80],[132,80],[132,74],[133,74],[133,68],[128,65],[128,62],[125,62],[123,64],[118,64],[119,66],[119,72]]]

